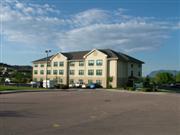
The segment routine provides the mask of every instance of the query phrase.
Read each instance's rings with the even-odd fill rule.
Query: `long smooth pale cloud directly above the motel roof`
[[[141,22],[96,24],[60,34],[59,47],[72,50],[84,47],[116,48],[122,51],[142,51],[161,45],[168,38],[163,27]]]

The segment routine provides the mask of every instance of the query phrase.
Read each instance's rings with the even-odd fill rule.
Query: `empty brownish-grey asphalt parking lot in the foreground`
[[[0,135],[180,135],[180,94],[1,94]]]

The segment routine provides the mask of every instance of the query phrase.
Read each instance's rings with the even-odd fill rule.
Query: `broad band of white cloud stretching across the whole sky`
[[[89,9],[62,15],[54,6],[4,0],[0,9],[7,42],[39,47],[80,50],[113,48],[132,52],[157,48],[179,29],[167,20],[135,17],[128,10]],[[64,18],[63,16],[66,16]]]

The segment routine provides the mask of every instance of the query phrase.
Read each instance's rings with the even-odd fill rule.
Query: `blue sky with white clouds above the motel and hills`
[[[113,49],[153,70],[180,70],[179,0],[0,0],[0,62]]]

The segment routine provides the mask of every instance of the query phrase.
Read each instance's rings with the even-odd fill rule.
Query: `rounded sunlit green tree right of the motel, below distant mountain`
[[[173,83],[175,81],[174,76],[170,73],[158,73],[155,76],[155,81],[158,84],[167,84],[167,83]]]

